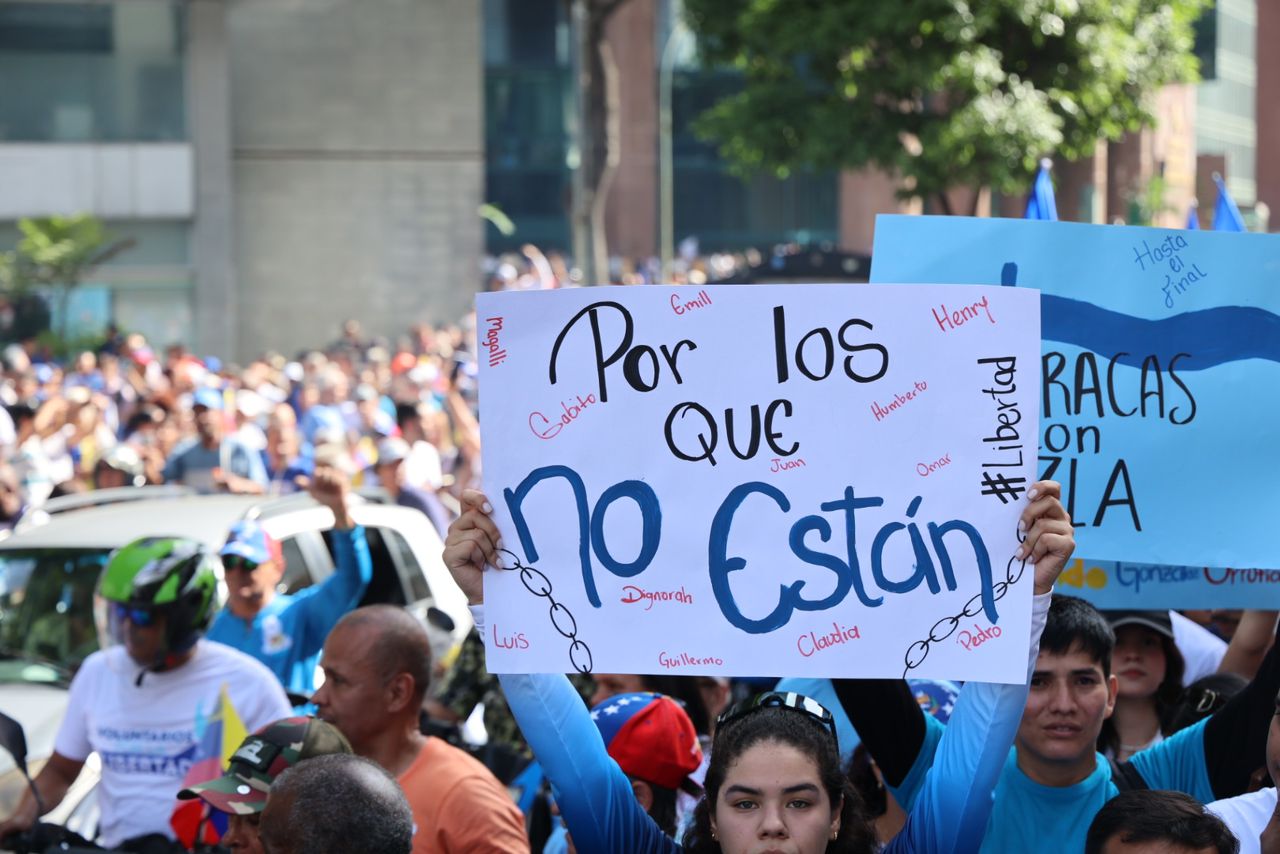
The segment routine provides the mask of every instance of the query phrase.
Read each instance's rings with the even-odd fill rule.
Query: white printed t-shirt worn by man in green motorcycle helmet
[[[280,682],[264,665],[229,647],[201,640],[189,662],[147,672],[123,647],[84,659],[72,681],[67,717],[54,749],[102,759],[101,842],[115,848],[145,834],[173,837],[169,817],[182,780],[198,754],[196,721],[219,708],[223,686],[252,732],[292,714]]]

